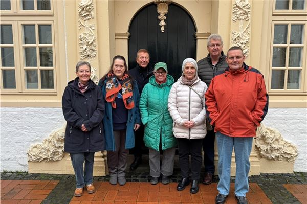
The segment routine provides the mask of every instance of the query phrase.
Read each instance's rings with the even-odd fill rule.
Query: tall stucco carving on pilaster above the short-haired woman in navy
[[[92,0],[81,0],[78,7],[80,59],[92,62],[97,55],[95,24],[90,23],[94,19],[94,4]],[[91,79],[97,84],[96,71],[97,69],[92,66]]]

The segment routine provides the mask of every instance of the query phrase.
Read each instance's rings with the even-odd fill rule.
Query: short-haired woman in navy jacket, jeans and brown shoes
[[[79,197],[86,186],[87,193],[94,193],[93,166],[96,151],[104,150],[104,103],[101,89],[90,79],[91,65],[80,61],[76,65],[77,77],[64,90],[62,107],[67,121],[64,151],[69,152],[76,175]],[[83,163],[84,171],[83,171]]]

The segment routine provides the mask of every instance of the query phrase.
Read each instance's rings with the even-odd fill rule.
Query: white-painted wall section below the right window
[[[298,146],[294,171],[307,172],[307,108],[269,108],[264,124]]]

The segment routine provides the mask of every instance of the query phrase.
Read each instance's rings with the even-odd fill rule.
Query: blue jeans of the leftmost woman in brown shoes
[[[94,155],[95,152],[70,153],[76,176],[76,188],[83,188],[93,183]]]

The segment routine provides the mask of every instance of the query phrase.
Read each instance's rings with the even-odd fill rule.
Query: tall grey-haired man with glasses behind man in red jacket
[[[225,70],[228,64],[225,61],[226,56],[223,53],[223,40],[218,34],[211,34],[208,37],[207,49],[209,54],[207,57],[198,61],[198,76],[209,87],[211,79],[219,72]],[[203,183],[211,184],[215,170],[214,167],[214,128],[208,130],[207,135],[203,139],[205,176]]]

